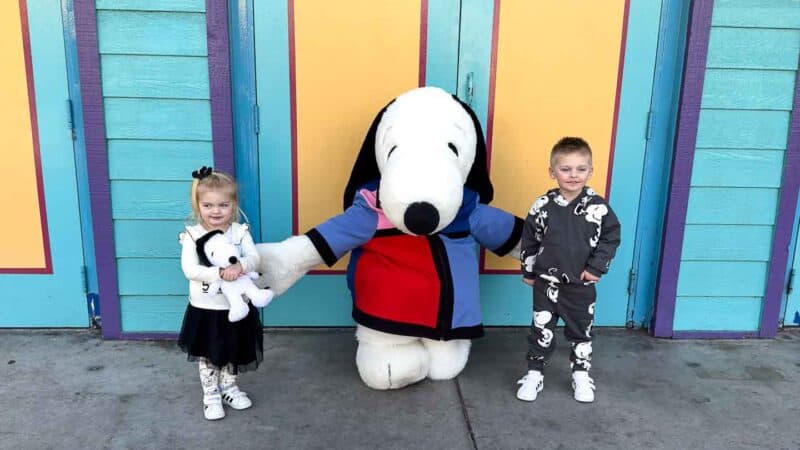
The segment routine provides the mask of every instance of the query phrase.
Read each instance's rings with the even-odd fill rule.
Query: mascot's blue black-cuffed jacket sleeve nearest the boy
[[[522,236],[522,224],[521,218],[483,203],[469,216],[472,236],[498,256],[505,256],[517,245]]]

